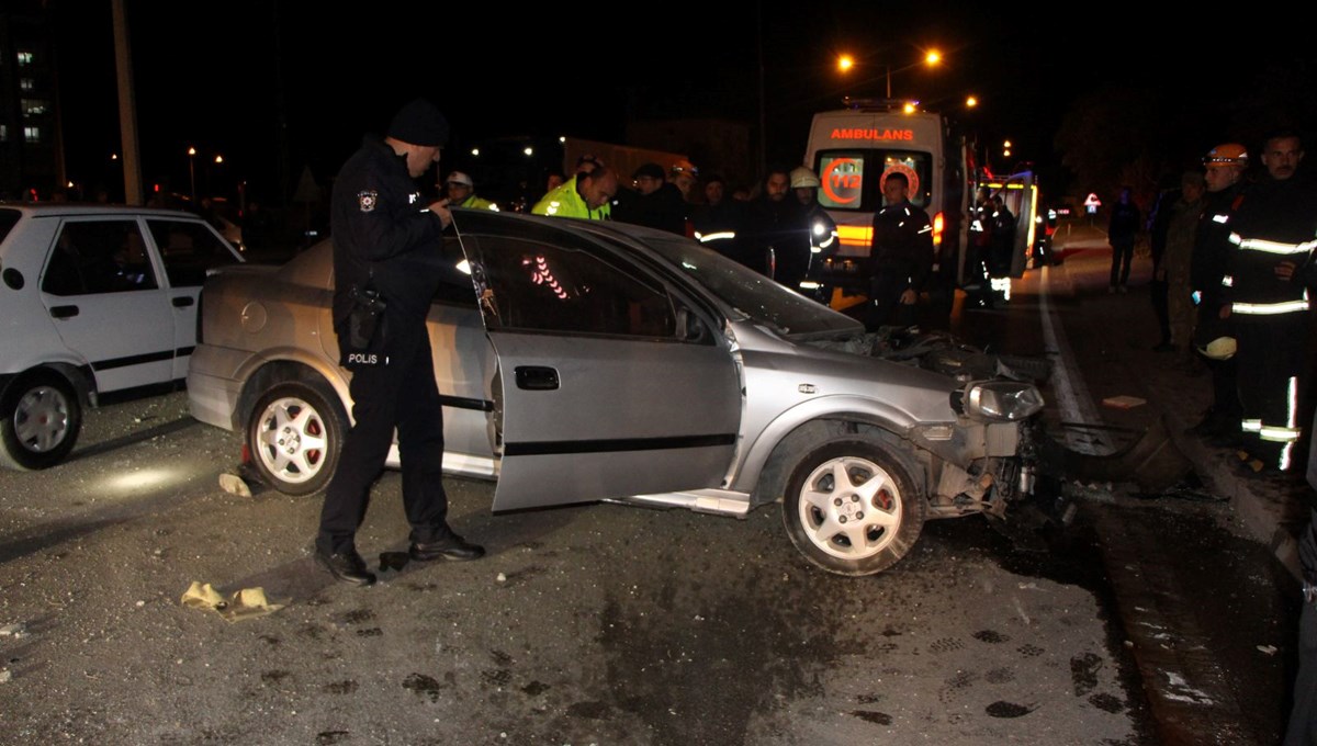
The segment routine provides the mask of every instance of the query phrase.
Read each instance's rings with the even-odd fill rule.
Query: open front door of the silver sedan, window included
[[[724,485],[740,376],[689,289],[576,221],[453,221],[498,357],[494,510]]]

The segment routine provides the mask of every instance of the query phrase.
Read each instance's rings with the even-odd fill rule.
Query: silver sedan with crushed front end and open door
[[[810,562],[869,575],[926,520],[1000,517],[1033,487],[1029,380],[885,359],[855,320],[669,233],[461,209],[453,233],[428,317],[444,466],[497,480],[495,512],[781,503]],[[291,495],[327,484],[349,424],[332,275],[325,241],[202,293],[191,412]]]

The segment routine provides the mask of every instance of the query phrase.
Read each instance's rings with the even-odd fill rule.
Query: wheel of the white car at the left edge
[[[20,471],[65,460],[82,430],[82,401],[63,376],[40,371],[9,387],[0,403],[0,466]]]

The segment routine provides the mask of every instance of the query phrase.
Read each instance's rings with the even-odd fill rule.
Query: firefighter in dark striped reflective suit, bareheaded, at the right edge
[[[1252,457],[1246,475],[1289,471],[1303,434],[1299,409],[1312,329],[1301,276],[1317,247],[1317,191],[1295,175],[1303,157],[1297,134],[1267,138],[1267,178],[1245,192],[1230,221],[1234,250],[1222,289],[1238,345],[1241,426]]]

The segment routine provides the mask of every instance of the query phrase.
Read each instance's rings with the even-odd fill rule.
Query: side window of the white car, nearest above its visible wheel
[[[66,221],[41,280],[42,291],[59,296],[157,287],[136,220]]]

